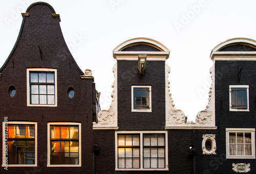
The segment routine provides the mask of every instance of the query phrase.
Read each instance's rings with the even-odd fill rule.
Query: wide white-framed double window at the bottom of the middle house
[[[168,170],[167,132],[116,132],[116,170]]]

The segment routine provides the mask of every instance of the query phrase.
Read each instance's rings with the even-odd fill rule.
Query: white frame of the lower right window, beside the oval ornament
[[[251,133],[251,155],[229,155],[229,133]],[[226,128],[226,158],[227,159],[255,159],[255,128]]]

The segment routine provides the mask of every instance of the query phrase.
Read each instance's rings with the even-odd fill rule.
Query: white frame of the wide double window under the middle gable
[[[140,168],[118,168],[118,149],[117,149],[117,136],[118,134],[139,134],[140,135]],[[165,168],[143,168],[143,134],[164,134],[165,135]],[[115,132],[115,163],[116,167],[115,170],[169,170],[168,169],[168,133],[165,130],[161,131],[150,131],[150,130],[144,130],[144,131],[116,131]]]

